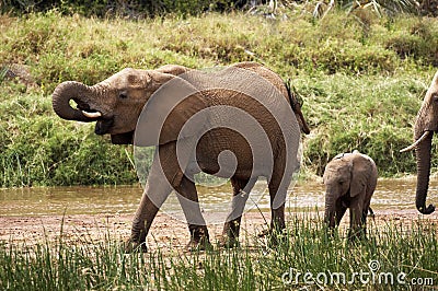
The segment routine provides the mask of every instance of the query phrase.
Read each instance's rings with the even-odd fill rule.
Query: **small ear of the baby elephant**
[[[355,197],[360,193],[367,190],[367,183],[371,173],[371,165],[367,159],[364,159],[359,154],[353,153],[353,171],[351,171],[351,183],[349,194],[350,197]]]

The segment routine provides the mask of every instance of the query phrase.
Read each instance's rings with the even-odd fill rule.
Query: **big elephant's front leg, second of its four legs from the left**
[[[180,186],[177,186],[175,190],[178,193],[177,198],[183,208],[184,216],[188,223],[188,230],[191,232],[191,241],[187,248],[191,251],[205,249],[210,242],[207,223],[200,212],[195,183],[186,176],[183,176]]]

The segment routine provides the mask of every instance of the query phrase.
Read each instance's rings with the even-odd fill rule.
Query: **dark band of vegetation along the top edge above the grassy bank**
[[[143,19],[162,16],[169,13],[187,16],[199,15],[204,12],[231,12],[261,10],[268,13],[281,8],[310,9],[313,15],[326,14],[333,7],[353,11],[369,9],[379,15],[394,15],[399,13],[416,13],[418,15],[437,15],[436,0],[146,0],[124,1],[115,0],[64,0],[64,1],[34,1],[34,0],[3,0],[0,5],[1,13],[32,13],[47,12],[57,9],[62,14],[79,13],[85,16],[124,16],[129,19]]]

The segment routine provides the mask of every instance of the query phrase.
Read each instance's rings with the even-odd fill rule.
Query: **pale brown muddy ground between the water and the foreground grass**
[[[318,217],[323,213],[288,213],[287,219],[310,219],[320,223]],[[32,245],[41,242],[56,242],[62,233],[64,241],[69,243],[95,243],[107,237],[125,241],[130,234],[130,223],[134,214],[74,214],[74,216],[42,216],[42,217],[0,217],[0,241],[3,244]],[[242,219],[241,243],[251,244],[253,237],[267,229],[269,213],[246,212]],[[347,228],[348,214],[343,219],[343,228]],[[420,216],[413,210],[376,211],[374,219],[368,218],[379,231],[385,231],[393,225],[403,225],[404,230],[417,223],[435,226],[437,230],[438,214]],[[221,224],[208,225],[210,240],[218,240],[222,231]],[[437,233],[438,234],[438,233]],[[183,221],[166,213],[159,213],[148,235],[149,249],[160,248],[162,252],[185,249],[188,243],[188,230]]]

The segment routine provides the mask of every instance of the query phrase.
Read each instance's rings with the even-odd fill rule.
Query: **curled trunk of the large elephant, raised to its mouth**
[[[67,81],[59,84],[53,94],[53,107],[55,113],[67,120],[77,121],[95,121],[99,113],[87,112],[90,110],[90,88],[74,81]],[[78,108],[72,108],[70,100],[73,100],[78,104]]]

